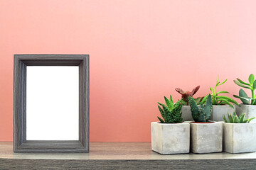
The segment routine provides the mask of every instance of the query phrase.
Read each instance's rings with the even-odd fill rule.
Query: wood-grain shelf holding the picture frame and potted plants
[[[255,169],[256,153],[173,154],[150,142],[91,142],[90,153],[13,153],[0,143],[0,169]]]

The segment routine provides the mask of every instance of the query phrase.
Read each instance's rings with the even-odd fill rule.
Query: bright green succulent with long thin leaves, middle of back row
[[[220,83],[219,79],[220,79],[220,77],[218,75],[218,80],[217,80],[217,83],[216,83],[214,89],[212,87],[210,87],[210,91],[212,92],[211,96],[213,98],[213,101],[212,101],[213,105],[228,104],[230,107],[234,108],[233,105],[231,104],[231,103],[234,103],[234,104],[239,106],[238,102],[236,102],[233,98],[230,98],[228,96],[218,96],[219,94],[229,94],[228,91],[218,91],[218,92],[216,92],[217,87],[222,85],[222,84],[225,84],[225,82],[228,80],[228,79],[225,79],[225,81]],[[201,103],[205,103],[206,98],[207,98],[207,96],[203,98]]]

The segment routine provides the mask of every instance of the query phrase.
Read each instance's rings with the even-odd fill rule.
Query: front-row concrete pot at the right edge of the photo
[[[223,123],[223,150],[256,152],[256,123]]]

